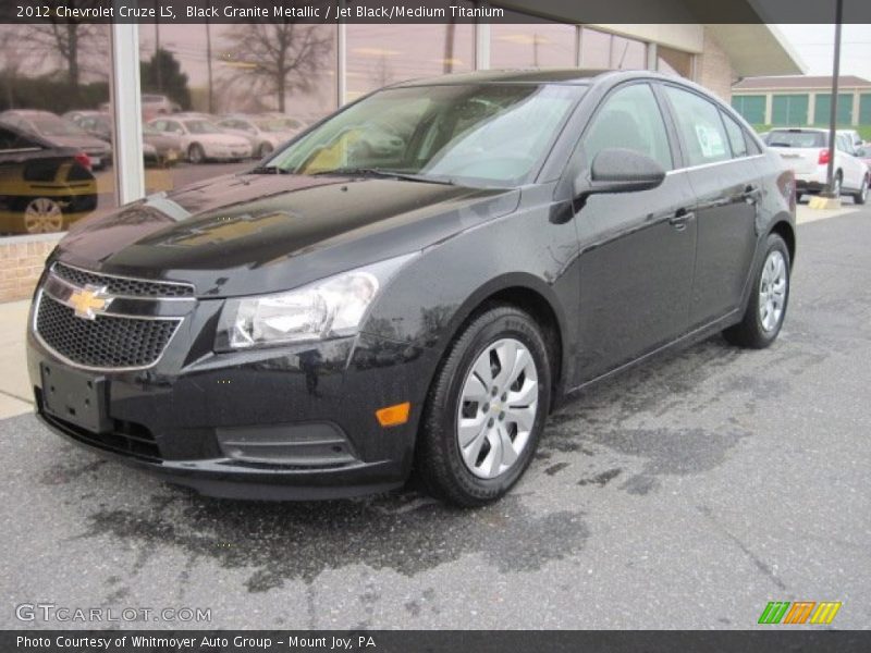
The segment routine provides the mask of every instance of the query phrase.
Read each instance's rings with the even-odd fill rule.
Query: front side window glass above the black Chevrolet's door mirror
[[[593,116],[582,147],[590,163],[601,150],[617,147],[646,155],[665,170],[674,168],[662,112],[648,84],[611,94]]]

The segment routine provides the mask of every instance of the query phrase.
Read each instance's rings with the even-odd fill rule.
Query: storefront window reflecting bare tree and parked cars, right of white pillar
[[[336,42],[334,25],[140,25],[146,192],[243,170],[334,111]]]

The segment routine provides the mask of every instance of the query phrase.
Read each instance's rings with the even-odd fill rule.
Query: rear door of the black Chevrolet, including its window
[[[696,202],[690,328],[738,308],[756,249],[761,180],[744,128],[708,98],[664,85]]]

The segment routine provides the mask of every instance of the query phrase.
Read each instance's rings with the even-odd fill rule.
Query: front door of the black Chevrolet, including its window
[[[578,213],[579,370],[594,379],[673,341],[687,328],[696,222],[687,175],[652,87],[633,83],[600,104],[581,138],[589,165],[604,148],[639,151],[668,171],[651,190],[593,195]],[[673,136],[673,134],[672,134]]]

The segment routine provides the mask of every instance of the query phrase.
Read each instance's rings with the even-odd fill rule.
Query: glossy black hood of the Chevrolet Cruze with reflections
[[[241,174],[76,223],[56,257],[226,297],[297,287],[409,254],[517,207],[519,190]]]

